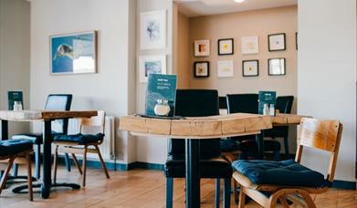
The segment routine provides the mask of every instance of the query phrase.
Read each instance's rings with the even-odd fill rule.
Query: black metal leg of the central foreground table
[[[200,207],[200,143],[186,140],[186,207]]]

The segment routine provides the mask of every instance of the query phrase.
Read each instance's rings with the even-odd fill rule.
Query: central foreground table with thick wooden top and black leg
[[[245,113],[184,120],[128,116],[120,122],[120,130],[132,135],[185,140],[186,207],[200,207],[199,140],[259,134],[271,128],[269,117]]]

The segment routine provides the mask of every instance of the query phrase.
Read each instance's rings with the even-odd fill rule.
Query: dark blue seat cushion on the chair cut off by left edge
[[[32,150],[31,140],[1,140],[0,156],[14,155],[23,151]]]

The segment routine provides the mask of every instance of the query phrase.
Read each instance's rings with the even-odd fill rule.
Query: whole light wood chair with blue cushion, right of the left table
[[[100,128],[100,140],[93,140],[93,134],[84,134],[93,129]],[[97,153],[106,177],[109,179],[110,175],[100,154],[99,145],[103,142],[105,128],[105,112],[102,110],[98,111],[98,116],[91,119],[81,119],[80,120],[80,133],[77,135],[68,136],[58,136],[54,138],[54,144],[56,145],[55,151],[55,170],[53,180],[56,183],[57,180],[57,166],[58,166],[58,152],[68,153],[72,155],[73,161],[79,170],[79,173],[83,175],[82,186],[86,186],[86,171],[87,171],[87,153]],[[90,146],[94,148],[89,148]],[[76,154],[83,155],[82,168],[79,166],[79,161],[77,160]]]

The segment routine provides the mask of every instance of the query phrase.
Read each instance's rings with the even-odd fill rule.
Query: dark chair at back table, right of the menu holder
[[[294,102],[293,96],[280,96],[277,98],[276,109],[280,113],[291,113],[292,103]],[[264,137],[284,138],[284,150],[289,155],[289,126],[274,127],[271,130],[264,130]]]

